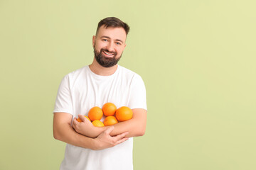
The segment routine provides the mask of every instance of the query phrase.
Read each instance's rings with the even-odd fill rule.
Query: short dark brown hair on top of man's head
[[[97,31],[100,29],[101,26],[105,28],[112,27],[112,28],[124,28],[126,35],[129,33],[129,26],[127,23],[124,23],[119,18],[115,17],[107,17],[102,19],[97,26]],[[96,31],[96,34],[97,34]]]

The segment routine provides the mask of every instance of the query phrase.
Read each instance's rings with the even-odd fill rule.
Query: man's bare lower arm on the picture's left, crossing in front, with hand
[[[87,149],[105,149],[108,147],[114,147],[119,143],[127,140],[126,133],[117,135],[116,137],[111,137],[110,132],[114,128],[108,128],[102,131],[97,138],[85,137],[84,135],[75,132],[71,126],[72,115],[69,113],[54,113],[53,117],[53,137],[56,140],[66,142],[70,145],[75,145],[77,147],[84,147]]]

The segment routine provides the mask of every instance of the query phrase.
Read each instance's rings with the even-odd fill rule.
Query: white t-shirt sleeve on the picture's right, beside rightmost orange
[[[131,94],[129,97],[129,108],[146,108],[146,88],[142,77],[135,74],[131,84]]]

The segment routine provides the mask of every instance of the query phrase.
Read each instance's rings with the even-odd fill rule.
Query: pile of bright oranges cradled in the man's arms
[[[100,120],[103,115],[105,115],[106,118],[102,123]],[[128,108],[127,106],[122,106],[121,108],[117,109],[117,106],[115,106],[114,103],[105,103],[102,108],[97,106],[91,108],[88,113],[88,117],[85,115],[85,118],[90,120],[92,122],[92,125],[97,127],[103,127],[132,119],[132,115],[132,109]],[[78,118],[77,120],[78,122],[82,122],[80,118]]]

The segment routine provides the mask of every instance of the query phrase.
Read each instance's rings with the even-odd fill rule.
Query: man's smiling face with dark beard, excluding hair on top
[[[105,28],[101,26],[97,35],[92,38],[95,59],[102,67],[112,67],[122,56],[126,47],[124,28]]]

